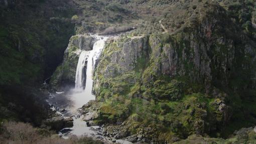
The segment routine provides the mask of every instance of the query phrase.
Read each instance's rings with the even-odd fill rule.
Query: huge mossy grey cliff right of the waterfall
[[[209,7],[177,33],[106,44],[95,75],[96,123],[121,124],[106,127],[121,129],[118,138],[173,142],[255,122],[252,105],[241,110],[255,100],[255,42],[222,7]],[[244,116],[247,123],[233,127]]]

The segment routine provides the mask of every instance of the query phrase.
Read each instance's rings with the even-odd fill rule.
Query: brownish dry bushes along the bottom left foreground
[[[23,122],[8,122],[4,123],[0,131],[1,144],[87,144],[87,143],[103,143],[95,141],[91,137],[72,137],[63,139],[57,134],[46,129],[38,129],[31,124]]]

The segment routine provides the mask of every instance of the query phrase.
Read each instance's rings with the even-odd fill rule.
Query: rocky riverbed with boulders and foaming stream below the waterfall
[[[51,94],[48,102],[54,114],[52,118],[46,119],[43,123],[43,125],[51,126],[53,130],[58,131],[61,137],[67,138],[72,134],[77,136],[86,135],[106,143],[131,143],[136,142],[135,139],[138,139],[134,135],[128,136],[126,133],[124,134],[123,130],[119,132],[119,129],[110,128],[108,125],[96,125],[93,120],[97,117],[97,114],[92,110],[92,107],[88,107],[91,106],[93,100],[89,101],[81,109],[78,109],[77,112],[72,113],[68,107],[65,109],[61,106],[60,101],[71,103],[65,97],[65,93]],[[59,103],[57,103],[56,99],[62,100],[59,100]],[[86,107],[88,108],[87,112],[84,111]]]

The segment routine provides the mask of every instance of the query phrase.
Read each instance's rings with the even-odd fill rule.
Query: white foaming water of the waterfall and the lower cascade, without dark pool
[[[91,127],[87,127],[85,121],[83,121],[83,116],[79,117],[78,108],[82,107],[90,100],[94,100],[95,96],[92,94],[92,86],[93,86],[93,70],[95,66],[95,62],[101,54],[101,51],[104,47],[105,41],[108,37],[99,37],[95,36],[97,41],[93,45],[93,49],[91,51],[82,51],[76,69],[76,80],[75,80],[75,89],[73,93],[70,95],[70,98],[73,102],[71,107],[71,112],[74,113],[73,117],[73,127],[67,128],[71,129],[70,134],[74,134],[77,136],[81,136],[83,134],[95,134],[95,131],[91,130]],[[84,78],[84,67],[86,64],[86,79]],[[86,83],[84,85],[84,80]],[[85,87],[85,89],[84,89]],[[64,138],[67,138],[63,136]]]

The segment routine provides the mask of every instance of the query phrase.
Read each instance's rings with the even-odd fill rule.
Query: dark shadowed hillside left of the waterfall
[[[0,121],[39,125],[47,116],[39,87],[62,61],[73,8],[70,1],[0,1]]]

